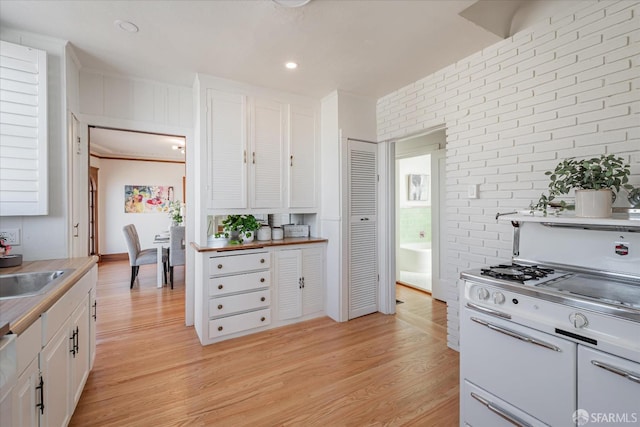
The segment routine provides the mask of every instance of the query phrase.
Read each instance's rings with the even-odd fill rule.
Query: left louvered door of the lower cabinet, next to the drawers
[[[300,250],[284,250],[276,256],[278,289],[278,318],[294,319],[302,316],[302,271]]]

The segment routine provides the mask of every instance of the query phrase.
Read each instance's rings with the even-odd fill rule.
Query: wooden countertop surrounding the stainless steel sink
[[[84,276],[98,261],[98,257],[26,261],[17,267],[3,268],[0,275],[37,271],[73,269],[56,287],[42,295],[0,300],[0,326],[8,324],[14,334],[24,332],[47,311],[65,292]]]

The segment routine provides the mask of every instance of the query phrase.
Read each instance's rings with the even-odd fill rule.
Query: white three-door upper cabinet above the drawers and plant
[[[202,118],[209,213],[316,208],[318,126],[313,108],[207,89]]]

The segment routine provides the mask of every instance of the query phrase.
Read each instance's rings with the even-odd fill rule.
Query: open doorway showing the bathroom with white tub
[[[440,129],[395,146],[396,282],[442,301],[445,144]]]

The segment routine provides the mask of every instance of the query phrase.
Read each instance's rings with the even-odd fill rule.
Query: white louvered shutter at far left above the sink
[[[0,41],[0,216],[46,215],[47,54]]]

